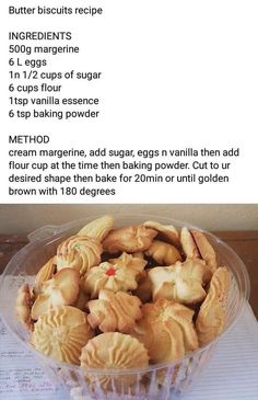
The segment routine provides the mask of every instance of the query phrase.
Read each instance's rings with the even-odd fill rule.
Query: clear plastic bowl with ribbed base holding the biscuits
[[[80,366],[56,362],[30,345],[30,333],[15,317],[13,282],[19,277],[20,284],[32,283],[33,276],[40,266],[56,253],[57,245],[67,237],[77,233],[82,226],[94,218],[96,217],[92,216],[62,226],[47,226],[28,236],[30,243],[12,258],[2,275],[0,307],[4,323],[23,345],[33,352],[44,369],[54,378],[54,381],[67,388],[73,399],[166,400],[184,395],[199,379],[218,342],[236,322],[243,311],[245,301],[249,297],[249,278],[244,263],[230,247],[209,232],[204,233],[216,251],[219,264],[226,266],[232,272],[232,285],[226,305],[224,332],[204,347],[188,353],[176,362],[151,365],[146,368],[85,370]],[[194,228],[194,226],[183,221],[160,218],[153,215],[119,214],[116,215],[116,227],[139,224],[144,220],[157,220],[164,225],[174,225],[177,228],[184,226]],[[110,385],[107,389],[103,389],[101,385],[105,377],[110,378]],[[91,384],[93,380],[94,385]],[[132,382],[130,386],[124,384],[128,380]]]

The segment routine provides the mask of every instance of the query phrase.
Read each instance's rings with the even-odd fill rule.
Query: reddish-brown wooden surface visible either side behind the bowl
[[[250,305],[258,319],[258,230],[214,232],[244,261],[250,276]],[[9,260],[27,243],[26,235],[0,235],[0,273]]]

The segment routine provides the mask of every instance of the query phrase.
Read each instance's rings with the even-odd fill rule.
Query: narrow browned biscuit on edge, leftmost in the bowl
[[[17,290],[17,297],[15,301],[15,313],[20,322],[22,322],[27,329],[33,329],[33,322],[31,317],[31,309],[33,305],[30,286],[23,284]]]

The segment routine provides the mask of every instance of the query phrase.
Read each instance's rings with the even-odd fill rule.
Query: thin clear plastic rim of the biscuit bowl
[[[9,261],[9,263],[7,264],[7,266],[2,273],[2,276],[0,279],[0,299],[1,299],[1,294],[3,292],[2,286],[4,283],[4,277],[7,275],[9,275],[8,274],[9,270],[11,268],[13,262],[15,262],[16,259],[20,259],[21,255],[24,256],[25,254],[30,253],[35,247],[38,247],[40,244],[40,242],[49,241],[49,239],[51,239],[51,241],[57,240],[60,237],[60,233],[66,233],[71,228],[75,228],[79,225],[83,226],[83,224],[90,222],[90,221],[92,221],[96,218],[103,217],[103,216],[104,216],[104,214],[97,214],[97,215],[93,215],[91,217],[80,218],[80,219],[72,220],[72,221],[69,221],[69,222],[66,222],[62,225],[58,225],[58,226],[45,226],[45,227],[42,227],[38,230],[30,233],[27,237],[31,241],[14,254],[14,256]],[[216,344],[219,341],[221,341],[221,339],[225,334],[227,334],[232,330],[232,328],[236,324],[236,322],[238,321],[239,317],[243,313],[246,301],[248,301],[248,299],[249,299],[250,281],[249,281],[248,272],[246,270],[244,262],[241,260],[241,258],[236,254],[236,252],[230,245],[227,245],[223,240],[218,238],[215,235],[200,228],[199,226],[186,222],[184,220],[178,220],[178,219],[163,217],[163,216],[153,215],[153,214],[137,214],[137,213],[136,214],[116,213],[115,217],[118,217],[118,218],[115,218],[118,220],[119,220],[119,218],[125,218],[125,219],[133,219],[133,218],[140,219],[141,218],[143,220],[157,220],[163,224],[174,225],[176,227],[188,227],[191,229],[198,229],[199,231],[202,231],[203,233],[212,237],[216,243],[219,243],[221,247],[223,247],[227,251],[227,253],[232,254],[236,259],[238,264],[241,265],[243,276],[244,276],[244,285],[242,287],[243,295],[241,298],[238,312],[235,316],[234,320],[232,320],[231,323],[226,327],[226,329],[221,334],[219,334],[215,339],[213,339],[210,343],[208,343],[204,346],[201,346],[192,352],[188,352],[183,357],[180,357],[178,359],[174,359],[173,362],[151,364],[146,367],[140,367],[140,368],[116,369],[116,368],[85,368],[80,365],[74,365],[74,364],[70,364],[70,363],[66,363],[66,362],[56,361],[55,358],[46,356],[45,354],[38,352],[36,348],[32,347],[32,345],[30,345],[30,343],[23,341],[16,334],[16,332],[14,332],[12,330],[12,328],[10,327],[9,322],[7,321],[7,319],[4,318],[4,315],[2,315],[2,312],[0,310],[0,316],[1,316],[5,327],[8,327],[10,332],[19,340],[20,343],[22,343],[23,346],[25,346],[30,352],[32,352],[37,357],[39,357],[43,364],[47,364],[47,365],[51,364],[52,367],[55,366],[60,369],[69,368],[72,370],[78,370],[83,374],[91,374],[91,375],[95,375],[95,376],[98,376],[98,375],[125,376],[125,375],[132,375],[132,374],[134,374],[134,375],[136,374],[145,374],[148,372],[159,370],[159,369],[163,369],[163,368],[172,368],[172,367],[175,367],[176,365],[178,365],[179,363],[183,363],[187,358],[192,358],[196,355],[200,355],[201,353],[207,352],[208,350],[211,350],[214,346],[214,344]],[[52,230],[52,233],[49,233],[49,229]],[[48,235],[44,236],[43,235],[44,231],[47,231]],[[39,235],[39,238],[37,238],[37,235]],[[43,237],[40,237],[42,235],[43,235]],[[238,289],[239,289],[239,287],[238,287]],[[0,301],[0,305],[1,305],[1,301]]]

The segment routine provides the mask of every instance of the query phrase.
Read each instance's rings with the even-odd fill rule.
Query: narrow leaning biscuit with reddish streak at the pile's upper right
[[[216,270],[216,256],[215,251],[204,233],[197,229],[190,229],[190,232],[195,239],[197,248],[201,254],[202,260],[206,261],[207,266],[210,268],[211,274]]]

